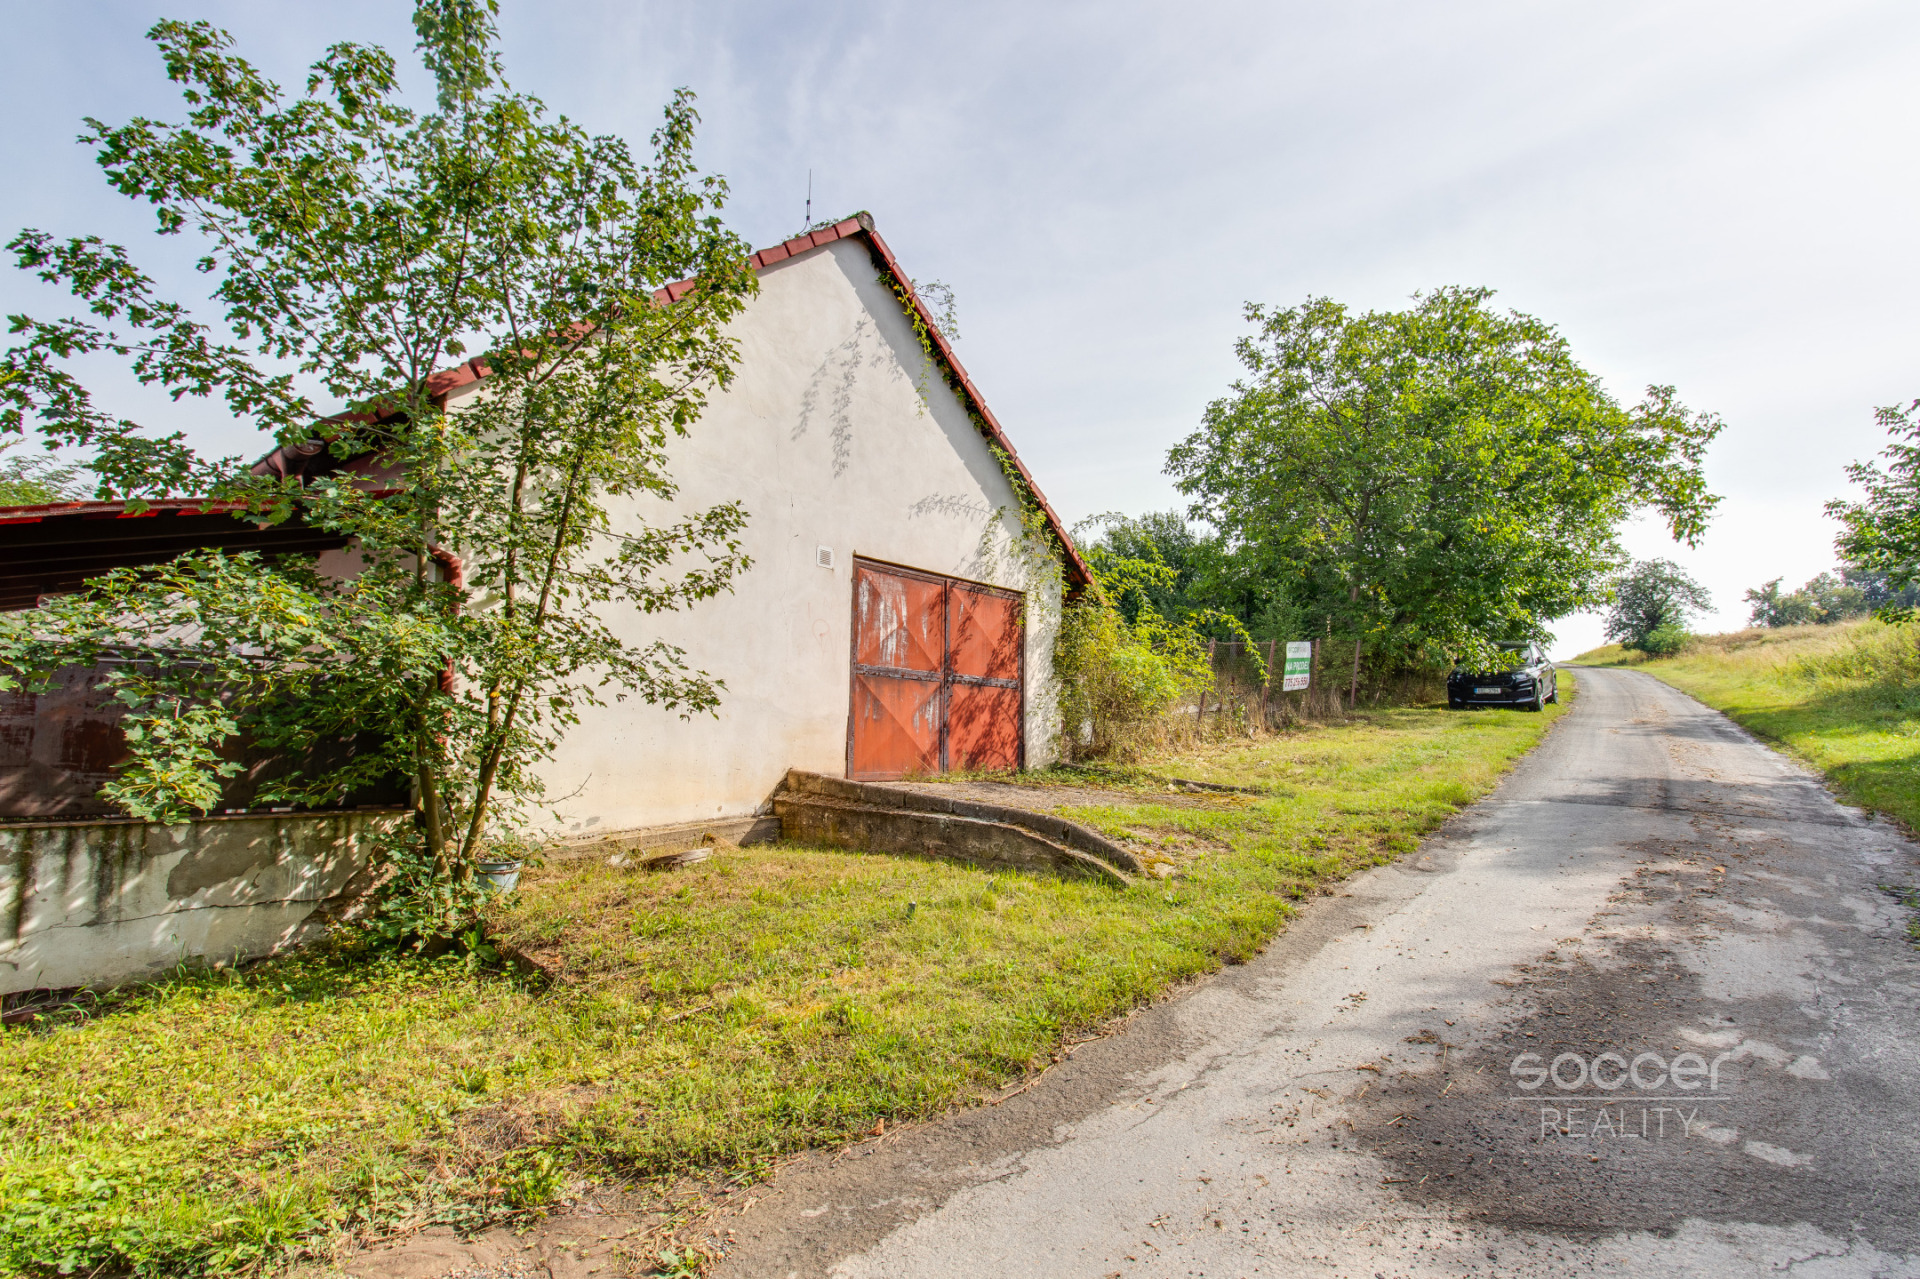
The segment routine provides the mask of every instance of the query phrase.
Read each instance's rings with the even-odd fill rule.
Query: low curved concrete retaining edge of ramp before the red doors
[[[1112,839],[1046,812],[847,782],[793,768],[774,793],[783,839],[860,853],[945,857],[1125,885],[1140,862]]]

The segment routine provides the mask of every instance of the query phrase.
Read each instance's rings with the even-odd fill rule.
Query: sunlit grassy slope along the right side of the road
[[[1672,659],[1607,645],[1820,768],[1847,801],[1920,830],[1920,630],[1882,622],[1701,636]]]

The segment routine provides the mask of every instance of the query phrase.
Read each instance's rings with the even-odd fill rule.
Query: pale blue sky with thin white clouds
[[[83,115],[179,117],[144,31],[204,17],[280,83],[334,40],[415,84],[411,8],[0,0],[0,230],[177,246],[73,144]],[[509,79],[643,142],[699,94],[699,161],[753,244],[868,209],[958,302],[958,351],[1054,507],[1171,509],[1165,451],[1236,374],[1248,302],[1400,307],[1446,284],[1559,326],[1620,399],[1672,384],[1726,430],[1693,549],[1713,593],[1834,565],[1830,497],[1920,396],[1920,6],[651,4],[501,0]],[[169,257],[173,253],[173,257]],[[0,309],[61,300],[8,271]],[[131,403],[211,451],[204,407]],[[1555,624],[1553,653],[1599,643]]]

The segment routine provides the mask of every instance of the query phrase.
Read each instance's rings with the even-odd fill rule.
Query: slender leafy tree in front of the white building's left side
[[[708,711],[720,686],[620,611],[685,607],[747,567],[737,505],[680,511],[666,447],[726,384],[724,325],[755,288],[718,219],[726,186],[691,163],[680,92],[641,163],[513,92],[492,0],[420,0],[434,109],[392,56],[334,44],[303,92],[234,56],[227,33],[150,33],[182,123],[88,121],[111,184],[194,236],[215,321],[157,296],[121,246],[25,230],[23,269],[84,315],[13,319],[0,430],[92,449],[102,492],[209,492],[261,519],[355,538],[363,568],[190,555],[121,570],[0,622],[0,674],[108,653],[132,762],[108,793],[177,820],[219,795],[236,737],[307,766],[257,803],[326,805],[376,774],[413,780],[419,822],[388,849],[415,889],[403,926],[447,929],[468,868],[541,801],[534,766],[582,707],[637,695]],[[664,305],[657,290],[693,277]],[[117,355],[175,398],[219,396],[280,442],[324,447],[319,478],[236,474],[180,436],[96,407],[71,357]],[[472,357],[484,392],[447,411],[430,376]],[[344,411],[323,421],[313,394]],[[616,519],[614,501],[657,519]],[[687,567],[691,565],[691,567]],[[159,657],[161,647],[165,655]],[[342,753],[369,726],[384,745]],[[332,766],[313,760],[346,759]],[[399,918],[399,916],[396,916]]]

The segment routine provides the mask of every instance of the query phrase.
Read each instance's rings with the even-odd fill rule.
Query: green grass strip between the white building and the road
[[[1248,958],[1555,716],[1377,711],[1152,760],[1258,797],[1140,782],[1069,810],[1177,849],[1173,880],[787,845],[666,874],[559,862],[493,920],[538,979],[342,945],[8,1029],[0,1269],[273,1267],[586,1179],[751,1177],[937,1114]]]

